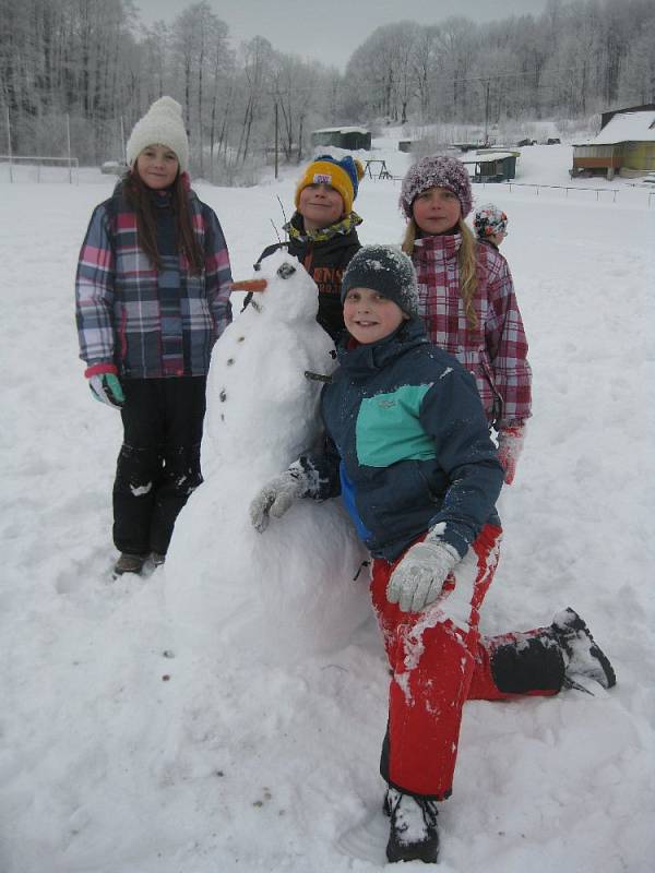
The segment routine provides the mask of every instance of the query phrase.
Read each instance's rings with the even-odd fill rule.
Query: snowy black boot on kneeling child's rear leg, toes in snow
[[[590,629],[571,607],[562,609],[552,620],[552,632],[564,655],[564,687],[576,687],[575,675],[594,679],[603,687],[617,684],[609,658],[594,642]]]

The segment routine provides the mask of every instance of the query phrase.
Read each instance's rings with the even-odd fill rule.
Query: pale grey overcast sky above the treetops
[[[171,22],[193,0],[135,0],[146,24]],[[547,0],[209,0],[228,26],[235,47],[264,36],[278,51],[315,58],[343,70],[350,55],[382,24],[434,24],[451,15],[498,21],[540,13]]]

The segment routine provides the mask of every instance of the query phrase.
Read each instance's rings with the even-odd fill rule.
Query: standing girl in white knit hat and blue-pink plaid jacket
[[[231,320],[218,219],[191,190],[180,105],[156,100],[127,145],[129,171],[97,206],[78,265],[80,357],[93,396],[120,409],[115,572],[164,561],[202,482],[210,355]]]

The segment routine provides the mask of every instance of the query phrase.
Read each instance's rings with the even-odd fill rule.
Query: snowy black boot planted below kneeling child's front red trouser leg
[[[391,817],[386,858],[392,862],[436,864],[439,854],[437,802],[390,788],[384,799],[384,811]]]

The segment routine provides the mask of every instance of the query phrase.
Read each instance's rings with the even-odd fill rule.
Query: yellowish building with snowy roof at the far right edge
[[[655,104],[604,112],[600,133],[573,145],[571,176],[641,176],[655,170]]]

